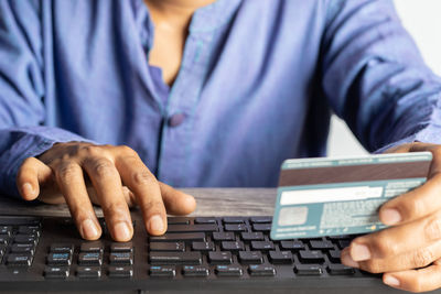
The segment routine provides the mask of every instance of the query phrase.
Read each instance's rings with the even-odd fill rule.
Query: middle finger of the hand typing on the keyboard
[[[122,184],[114,163],[107,159],[83,162],[103,208],[110,235],[116,241],[129,241],[133,236],[130,211],[122,195]]]

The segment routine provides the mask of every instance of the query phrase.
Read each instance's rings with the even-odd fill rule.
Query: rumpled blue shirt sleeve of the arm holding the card
[[[441,79],[390,0],[331,0],[321,80],[334,112],[370,152],[441,143]]]

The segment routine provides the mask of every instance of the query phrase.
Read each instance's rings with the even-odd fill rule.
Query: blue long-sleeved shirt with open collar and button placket
[[[441,143],[441,79],[389,0],[218,0],[170,89],[153,33],[142,0],[0,1],[1,193],[55,142],[127,144],[179,187],[275,186],[332,111],[369,151]]]

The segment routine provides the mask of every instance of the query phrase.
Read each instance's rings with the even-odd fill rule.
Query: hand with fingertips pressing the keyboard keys
[[[23,162],[17,184],[26,200],[65,202],[79,233],[87,240],[101,235],[92,203],[101,206],[117,241],[128,241],[133,235],[129,206],[140,207],[151,235],[165,232],[165,208],[169,214],[185,215],[196,206],[192,196],[158,182],[128,146],[55,144],[39,159],[29,157]]]

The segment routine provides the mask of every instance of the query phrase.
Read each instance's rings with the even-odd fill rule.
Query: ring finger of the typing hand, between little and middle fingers
[[[56,183],[66,199],[71,215],[84,239],[96,240],[101,228],[87,195],[82,167],[76,163],[61,163],[55,168]]]

